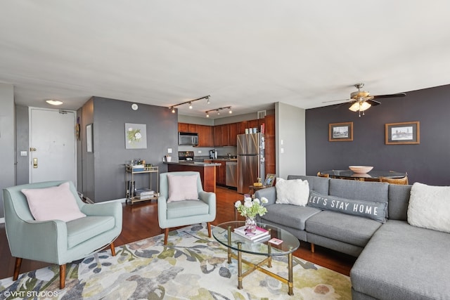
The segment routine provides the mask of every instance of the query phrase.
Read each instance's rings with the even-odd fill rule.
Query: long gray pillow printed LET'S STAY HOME
[[[343,214],[364,216],[380,223],[386,222],[386,202],[345,199],[330,195],[321,195],[314,192],[314,190],[311,190],[311,193],[309,193],[308,206],[323,210],[338,211]]]

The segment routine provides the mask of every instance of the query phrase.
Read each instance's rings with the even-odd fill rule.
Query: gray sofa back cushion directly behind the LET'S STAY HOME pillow
[[[361,201],[385,202],[387,204],[389,199],[389,183],[331,178],[328,195]],[[387,217],[389,215],[386,211]]]

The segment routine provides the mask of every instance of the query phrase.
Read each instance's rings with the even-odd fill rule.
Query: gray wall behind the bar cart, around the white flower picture
[[[131,110],[131,102],[93,97],[82,107],[82,171],[83,190],[94,202],[125,197],[124,164],[134,158],[167,171],[162,156],[167,148],[177,151],[178,117],[167,107],[139,104]],[[86,152],[86,124],[93,124],[94,152]],[[147,125],[147,149],[125,149],[125,123]],[[156,178],[154,176],[154,178]],[[146,188],[148,174],[135,176],[136,187]],[[153,188],[156,182],[153,181]]]

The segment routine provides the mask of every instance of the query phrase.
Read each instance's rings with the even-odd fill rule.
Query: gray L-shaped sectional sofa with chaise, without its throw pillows
[[[307,180],[309,190],[330,198],[387,204],[383,222],[311,207],[311,196],[304,207],[276,204],[275,187],[255,194],[269,200],[259,221],[288,230],[311,243],[313,251],[317,244],[358,257],[350,272],[353,299],[450,299],[450,233],[409,225],[411,185],[316,176],[289,179]]]

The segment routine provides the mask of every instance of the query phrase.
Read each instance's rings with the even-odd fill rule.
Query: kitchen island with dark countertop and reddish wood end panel
[[[205,192],[216,193],[216,164],[214,162],[164,162],[167,164],[167,171],[197,171],[200,173],[203,190]]]

